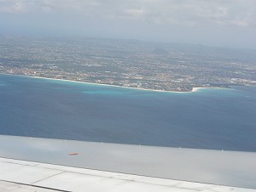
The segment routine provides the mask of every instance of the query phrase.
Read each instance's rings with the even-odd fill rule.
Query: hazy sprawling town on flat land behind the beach
[[[0,38],[0,73],[189,92],[256,85],[256,50],[120,39]]]

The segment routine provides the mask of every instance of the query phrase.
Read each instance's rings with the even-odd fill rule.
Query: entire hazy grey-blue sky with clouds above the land
[[[0,0],[0,34],[256,48],[256,0]]]

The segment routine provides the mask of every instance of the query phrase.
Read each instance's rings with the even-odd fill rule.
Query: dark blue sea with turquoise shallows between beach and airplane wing
[[[0,75],[0,134],[256,151],[256,88],[158,93]]]

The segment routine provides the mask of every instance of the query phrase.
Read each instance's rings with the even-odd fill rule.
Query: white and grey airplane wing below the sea
[[[0,144],[0,191],[256,192],[253,152],[5,135]]]

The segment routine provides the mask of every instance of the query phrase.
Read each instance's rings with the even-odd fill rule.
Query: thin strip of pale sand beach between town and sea
[[[3,75],[9,75],[9,76],[26,76],[26,75],[14,75],[14,74],[3,74]],[[54,80],[54,81],[63,81],[63,82],[79,82],[75,80],[67,80],[67,79],[57,79],[57,78],[51,78],[51,77],[44,77],[44,76],[26,76],[31,78],[38,78],[38,79],[46,79],[46,80]],[[125,86],[118,86],[118,85],[110,85],[110,84],[103,84],[103,83],[96,83],[96,82],[79,82],[89,85],[96,85],[96,86],[108,86],[113,88],[130,88]],[[142,91],[154,91],[154,92],[160,92],[160,93],[195,93],[198,92],[200,89],[204,88],[192,88],[191,91],[188,92],[178,92],[178,91],[165,91],[165,90],[157,90],[157,89],[150,89],[150,88],[131,88],[131,89],[137,89]]]

